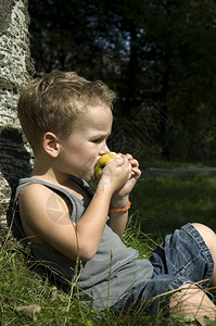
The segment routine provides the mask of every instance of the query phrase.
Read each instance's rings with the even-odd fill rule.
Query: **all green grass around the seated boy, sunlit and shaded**
[[[149,255],[155,243],[187,222],[201,222],[216,229],[216,174],[157,177],[140,180],[131,195],[132,206],[123,240]],[[73,297],[53,287],[26,263],[18,244],[7,243],[0,252],[0,325],[189,325],[161,312],[156,317],[137,314],[115,315],[81,308]],[[15,308],[38,304],[33,321]],[[207,325],[214,325],[208,323]],[[191,323],[190,325],[196,325]]]

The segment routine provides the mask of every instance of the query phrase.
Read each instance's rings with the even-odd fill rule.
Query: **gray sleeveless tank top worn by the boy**
[[[85,180],[76,177],[72,178],[92,196],[91,189]],[[78,285],[79,297],[84,301],[97,310],[104,310],[107,304],[110,306],[115,304],[131,287],[151,278],[151,263],[147,259],[138,259],[138,252],[132,248],[127,248],[107,225],[105,225],[97,253],[87,262],[77,263],[49,244],[34,244],[26,239],[17,203],[22,189],[30,184],[41,184],[66,196],[73,206],[71,218],[75,223],[79,221],[88,203],[59,186],[36,178],[21,179],[15,195],[14,226],[20,233],[20,237],[25,240],[24,244],[29,246],[33,255],[37,260],[54,271],[56,278],[63,285],[71,285],[74,289],[77,289]]]

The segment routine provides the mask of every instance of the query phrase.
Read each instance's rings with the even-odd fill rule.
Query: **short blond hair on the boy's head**
[[[66,139],[89,106],[110,108],[116,93],[100,80],[89,82],[74,72],[52,72],[27,84],[17,104],[23,131],[37,150],[47,131]]]

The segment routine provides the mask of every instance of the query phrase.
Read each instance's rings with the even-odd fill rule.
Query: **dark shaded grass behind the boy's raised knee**
[[[140,228],[154,239],[163,239],[188,222],[204,223],[216,230],[215,173],[147,178],[139,181],[130,198]]]

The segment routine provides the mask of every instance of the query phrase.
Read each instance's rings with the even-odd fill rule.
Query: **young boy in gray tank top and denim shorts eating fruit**
[[[55,271],[63,286],[77,283],[93,308],[145,304],[154,314],[158,294],[180,288],[170,308],[204,325],[204,316],[215,319],[216,310],[195,283],[216,285],[216,235],[187,224],[150,260],[138,260],[120,241],[129,193],[141,174],[137,160],[125,154],[109,163],[94,193],[87,184],[110,151],[115,98],[103,83],[75,73],[53,72],[27,85],[17,111],[35,164],[31,176],[20,181],[14,224],[34,256]]]

